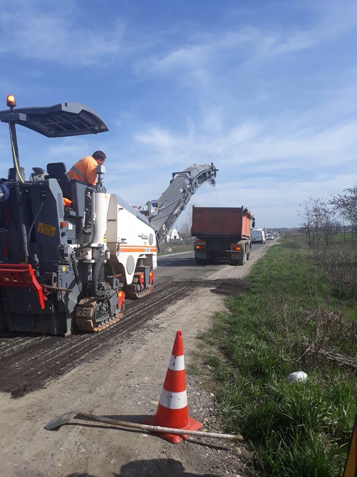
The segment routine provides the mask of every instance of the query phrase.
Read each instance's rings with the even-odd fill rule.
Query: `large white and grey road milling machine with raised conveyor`
[[[157,250],[213,165],[173,173],[155,201],[136,209],[107,192],[97,168],[95,186],[70,180],[63,162],[20,167],[16,125],[48,138],[108,131],[91,108],[75,102],[0,111],[10,133],[13,167],[0,179],[0,328],[67,336],[101,331],[119,321],[125,297],[153,290]],[[83,233],[85,195],[91,194],[91,233]]]

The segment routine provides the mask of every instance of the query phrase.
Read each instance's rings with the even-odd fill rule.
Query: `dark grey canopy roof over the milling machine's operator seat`
[[[105,133],[103,119],[80,103],[60,103],[55,106],[15,108],[0,111],[0,121],[20,124],[48,138]]]

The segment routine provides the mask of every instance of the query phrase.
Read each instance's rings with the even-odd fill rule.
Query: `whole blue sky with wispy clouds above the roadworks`
[[[18,128],[21,165],[107,154],[106,185],[157,198],[171,172],[214,161],[197,206],[247,206],[292,227],[298,204],[356,182],[355,1],[0,0],[0,97],[78,101],[110,131],[47,139]],[[0,175],[11,165],[0,125]]]

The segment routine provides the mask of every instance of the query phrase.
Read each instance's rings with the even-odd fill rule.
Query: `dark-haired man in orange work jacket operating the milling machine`
[[[68,171],[70,179],[87,182],[88,185],[97,183],[97,166],[104,164],[107,156],[103,151],[96,151],[92,156],[85,156],[79,159]],[[85,195],[85,221],[83,234],[90,235],[92,230],[92,196],[90,192]]]

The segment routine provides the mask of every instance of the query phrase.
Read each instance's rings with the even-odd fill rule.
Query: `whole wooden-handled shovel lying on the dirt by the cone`
[[[172,427],[161,427],[161,426],[150,426],[148,424],[137,424],[134,422],[119,421],[118,419],[110,419],[109,417],[97,416],[96,414],[87,414],[78,410],[65,412],[55,419],[52,419],[46,426],[45,429],[50,431],[56,429],[63,424],[68,424],[72,419],[84,419],[87,421],[102,422],[104,424],[112,424],[120,427],[129,427],[131,429],[140,429],[142,431],[149,432],[167,432],[169,434],[178,434],[178,435],[188,435],[188,436],[198,436],[198,437],[211,437],[213,439],[226,439],[231,441],[242,441],[243,438],[240,435],[233,434],[219,434],[216,432],[205,432],[205,431],[190,431],[186,429],[175,429]]]

